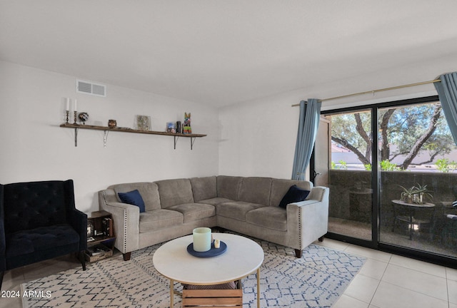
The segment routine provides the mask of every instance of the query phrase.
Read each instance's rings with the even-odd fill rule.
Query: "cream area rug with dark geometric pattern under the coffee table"
[[[331,307],[365,258],[310,245],[297,259],[291,248],[253,239],[265,252],[261,266],[261,307]],[[21,285],[23,307],[169,307],[169,280],[156,272],[152,255],[160,247],[94,262]],[[242,279],[243,308],[256,307],[256,274]],[[181,291],[181,284],[175,289]],[[175,295],[174,307],[181,307]]]

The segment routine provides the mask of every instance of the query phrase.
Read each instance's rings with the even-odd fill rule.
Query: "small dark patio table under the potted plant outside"
[[[403,222],[408,222],[409,223],[409,240],[413,239],[413,231],[414,227],[413,225],[421,225],[425,223],[432,223],[433,222],[433,216],[434,216],[434,210],[435,210],[435,205],[433,203],[423,203],[423,204],[416,204],[416,203],[406,203],[403,202],[402,200],[392,200],[392,206],[393,206],[393,226],[392,226],[392,232],[395,231],[395,224],[397,220],[403,221]],[[401,212],[401,209],[406,210],[406,215],[399,215]],[[424,219],[416,219],[414,218],[414,215],[416,214],[416,210],[423,210],[423,209],[431,209],[433,208],[433,213],[431,214],[430,219],[424,220]]]

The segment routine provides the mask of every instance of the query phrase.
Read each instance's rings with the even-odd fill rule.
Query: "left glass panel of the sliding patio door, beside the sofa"
[[[331,131],[328,230],[360,240],[372,240],[371,110],[329,113]],[[322,122],[322,121],[321,121]],[[316,148],[326,143],[316,141]],[[316,162],[322,155],[316,155]],[[316,173],[323,173],[322,169]]]

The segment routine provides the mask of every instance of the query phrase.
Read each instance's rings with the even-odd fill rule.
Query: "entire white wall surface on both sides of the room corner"
[[[188,178],[206,175],[271,176],[290,178],[296,142],[298,108],[306,98],[328,98],[376,88],[427,81],[457,71],[457,57],[432,59],[413,66],[386,68],[366,76],[298,89],[225,108],[107,85],[106,98],[76,94],[75,76],[41,71],[0,61],[0,183],[31,180],[75,180],[76,206],[84,212],[98,209],[96,192],[116,183]],[[82,78],[82,77],[80,77]],[[84,78],[83,78],[84,79]],[[401,98],[434,95],[433,85],[405,88],[323,102],[323,110]],[[133,127],[134,116],[151,116],[153,130],[167,121],[192,113],[194,150],[180,138],[160,135],[103,133],[59,128],[64,122],[64,98],[78,99],[88,124]]]

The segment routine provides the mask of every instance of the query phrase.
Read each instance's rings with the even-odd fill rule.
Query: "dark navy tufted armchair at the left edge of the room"
[[[73,180],[0,185],[0,288],[4,272],[76,253],[86,270],[87,215]]]

